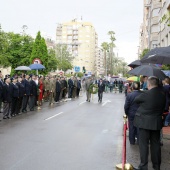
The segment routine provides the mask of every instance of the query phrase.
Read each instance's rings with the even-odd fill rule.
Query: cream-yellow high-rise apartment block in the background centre
[[[85,67],[86,73],[95,73],[98,37],[90,22],[74,19],[58,24],[56,44],[67,45],[68,51],[74,57],[74,67],[80,67],[80,71]]]

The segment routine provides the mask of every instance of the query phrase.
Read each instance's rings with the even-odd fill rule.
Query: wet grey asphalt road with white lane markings
[[[84,95],[1,121],[0,170],[115,169],[122,157],[124,99],[108,93],[102,103],[97,95],[89,103]],[[170,169],[170,142],[163,148],[162,169]],[[137,166],[138,146],[127,141],[127,153],[127,161]]]

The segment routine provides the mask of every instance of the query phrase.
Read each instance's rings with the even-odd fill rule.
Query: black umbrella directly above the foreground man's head
[[[166,78],[166,75],[159,69],[151,65],[141,65],[139,67],[130,70],[128,74],[136,75],[136,76],[156,76],[161,80]]]

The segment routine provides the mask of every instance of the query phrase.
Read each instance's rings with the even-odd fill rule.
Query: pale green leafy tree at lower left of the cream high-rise
[[[67,71],[68,69],[72,69],[72,60],[73,57],[70,55],[69,51],[67,50],[67,45],[57,45],[56,46],[56,57],[59,70]]]

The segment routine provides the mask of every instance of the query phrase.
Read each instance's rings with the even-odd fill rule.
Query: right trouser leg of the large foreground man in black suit
[[[160,170],[161,165],[160,130],[151,131],[150,150],[153,167],[156,170]]]

